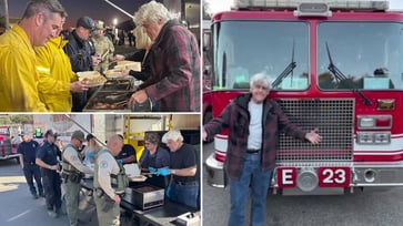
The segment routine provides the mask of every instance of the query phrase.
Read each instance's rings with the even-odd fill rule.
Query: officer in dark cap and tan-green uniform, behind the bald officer
[[[81,178],[84,174],[93,174],[93,171],[84,166],[79,158],[78,148],[84,141],[84,133],[74,131],[71,135],[70,144],[68,144],[62,152],[62,178],[66,187],[66,207],[70,226],[78,225]]]

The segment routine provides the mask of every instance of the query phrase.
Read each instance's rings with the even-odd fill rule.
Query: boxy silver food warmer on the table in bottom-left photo
[[[164,189],[150,184],[141,184],[125,191],[128,198],[134,206],[145,210],[164,204]]]

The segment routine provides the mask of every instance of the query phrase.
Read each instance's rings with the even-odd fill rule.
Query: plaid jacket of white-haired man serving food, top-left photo
[[[150,51],[152,75],[158,81],[145,88],[151,101],[160,102],[161,112],[199,111],[200,52],[193,33],[170,20]]]

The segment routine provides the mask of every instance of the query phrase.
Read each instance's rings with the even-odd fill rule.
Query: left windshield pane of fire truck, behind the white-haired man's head
[[[222,21],[213,27],[214,90],[249,89],[265,72],[274,90],[309,86],[309,25],[301,21]],[[290,62],[293,69],[284,73]],[[278,80],[282,75],[281,80]]]

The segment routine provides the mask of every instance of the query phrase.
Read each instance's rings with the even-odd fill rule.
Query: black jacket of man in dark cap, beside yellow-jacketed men
[[[93,44],[89,40],[81,39],[75,30],[68,37],[69,43],[64,47],[64,52],[69,55],[71,68],[74,72],[92,71],[92,58],[94,54]]]

